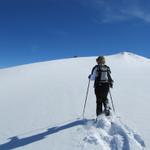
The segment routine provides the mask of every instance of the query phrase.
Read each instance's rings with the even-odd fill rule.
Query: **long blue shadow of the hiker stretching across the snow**
[[[33,136],[25,137],[25,138],[19,138],[18,136],[14,136],[14,137],[8,138],[10,140],[9,142],[1,144],[0,150],[11,150],[14,148],[22,147],[22,146],[31,144],[33,142],[40,141],[40,140],[46,138],[46,136],[48,136],[48,135],[57,133],[59,131],[62,131],[62,130],[68,129],[68,128],[72,128],[74,126],[83,125],[86,122],[87,122],[87,120],[76,120],[76,121],[73,121],[66,125],[48,128],[47,131],[45,131],[45,132],[42,132],[42,133],[39,133],[39,134],[36,134]]]

